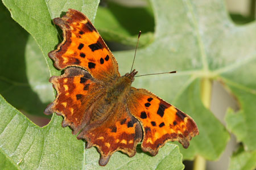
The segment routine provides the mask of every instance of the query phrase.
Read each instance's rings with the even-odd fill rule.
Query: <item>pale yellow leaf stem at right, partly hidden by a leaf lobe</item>
[[[212,98],[212,81],[209,78],[203,78],[201,80],[201,100],[205,108],[210,108],[210,100]],[[206,167],[206,160],[197,155],[194,161],[194,170],[204,170]]]

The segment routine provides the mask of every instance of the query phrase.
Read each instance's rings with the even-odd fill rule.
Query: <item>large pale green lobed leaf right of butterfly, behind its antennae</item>
[[[217,159],[229,140],[225,127],[200,100],[203,79],[224,83],[237,98],[240,113],[228,115],[228,127],[249,150],[255,150],[255,22],[245,26],[233,24],[224,3],[218,0],[152,1],[152,6],[155,41],[137,51],[134,67],[141,74],[170,70],[178,73],[145,76],[135,80],[134,85],[172,101],[195,119],[200,135],[192,139],[187,150],[181,148],[184,158],[201,155]],[[129,71],[127,63],[133,53],[115,53],[122,73]]]

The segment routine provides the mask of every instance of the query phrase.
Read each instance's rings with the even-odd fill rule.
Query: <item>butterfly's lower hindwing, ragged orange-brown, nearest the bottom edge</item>
[[[129,114],[125,104],[115,104],[109,115],[106,120],[88,125],[77,136],[88,142],[86,148],[97,147],[101,154],[100,165],[106,165],[115,151],[134,156],[136,146],[142,139],[141,125]]]

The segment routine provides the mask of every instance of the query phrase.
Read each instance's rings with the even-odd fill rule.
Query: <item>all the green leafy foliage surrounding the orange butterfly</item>
[[[228,131],[242,143],[232,156],[230,169],[255,168],[255,22],[234,24],[221,0],[152,0],[148,6],[136,8],[115,3],[98,7],[98,3],[3,0],[1,169],[183,169],[182,159],[218,159],[229,141]],[[137,78],[133,85],[154,92],[194,118],[200,135],[187,150],[171,142],[151,157],[138,146],[133,158],[117,152],[102,168],[96,149],[85,150],[85,142],[78,141],[70,129],[61,128],[61,117],[53,115],[51,122],[40,128],[20,112],[43,115],[54,99],[48,78],[60,71],[47,54],[61,41],[61,33],[52,19],[68,8],[95,20],[106,40],[135,45],[141,29],[141,48],[134,66],[139,73],[178,71],[172,76]],[[133,54],[134,50],[114,53],[121,74],[130,70]],[[229,109],[226,113],[226,127],[209,111],[213,80],[221,82],[240,106],[238,112]]]

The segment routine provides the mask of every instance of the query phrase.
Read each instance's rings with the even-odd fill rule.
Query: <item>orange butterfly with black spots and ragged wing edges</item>
[[[118,64],[90,20],[69,9],[53,22],[63,30],[64,40],[48,56],[64,74],[52,76],[57,95],[45,114],[63,116],[86,148],[97,147],[104,166],[116,151],[156,155],[167,141],[184,148],[199,134],[195,121],[173,105],[144,89],[131,87],[137,71],[121,76]]]

